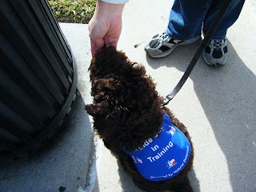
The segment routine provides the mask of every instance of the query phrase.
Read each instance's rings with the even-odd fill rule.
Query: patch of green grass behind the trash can
[[[48,0],[58,22],[88,23],[93,17],[96,0]]]

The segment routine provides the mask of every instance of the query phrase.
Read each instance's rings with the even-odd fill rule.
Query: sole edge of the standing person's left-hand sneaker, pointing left
[[[201,36],[198,36],[196,38],[191,38],[190,40],[187,40],[185,42],[181,42],[181,43],[179,43],[177,45],[174,45],[172,48],[170,48],[170,50],[166,50],[164,52],[162,52],[162,50],[153,50],[153,49],[148,49],[146,52],[148,54],[150,54],[150,57],[152,57],[152,58],[164,58],[168,54],[171,54],[177,46],[187,46],[187,45],[190,45],[190,44],[192,44],[194,42],[197,42],[200,38],[201,38]],[[154,55],[154,54],[156,54],[156,52],[158,52],[159,54]]]

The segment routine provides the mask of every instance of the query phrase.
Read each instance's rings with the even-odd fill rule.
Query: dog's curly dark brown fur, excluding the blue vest
[[[117,155],[134,183],[146,191],[193,191],[187,178],[194,158],[190,135],[168,108],[161,107],[163,98],[155,90],[152,78],[146,75],[145,67],[130,62],[124,53],[110,47],[95,54],[89,70],[94,102],[86,105],[86,111],[94,118],[94,130],[105,146]],[[168,114],[174,126],[189,139],[191,154],[189,162],[177,176],[152,182],[138,173],[123,149],[127,152],[138,150],[146,139],[159,134],[163,113]]]

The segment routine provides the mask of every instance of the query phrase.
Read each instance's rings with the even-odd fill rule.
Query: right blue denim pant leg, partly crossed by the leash
[[[210,25],[214,21],[216,14],[218,14],[218,10],[221,8],[223,2],[223,0],[214,0],[211,3],[210,8],[206,13],[206,18],[203,22],[202,31],[205,34],[207,30],[209,30]],[[222,21],[219,23],[218,28],[215,30],[212,39],[220,40],[226,38],[226,31],[238,19],[244,2],[245,0],[233,0],[230,3],[228,10],[226,10],[226,14],[223,16]]]

